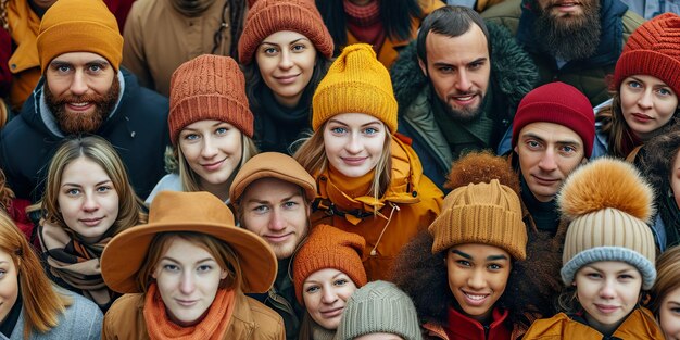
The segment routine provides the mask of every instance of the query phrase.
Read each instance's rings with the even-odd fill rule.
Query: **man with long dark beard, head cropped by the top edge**
[[[644,22],[620,0],[507,0],[481,15],[515,35],[539,66],[541,85],[569,84],[593,106],[609,99],[607,78]]]

